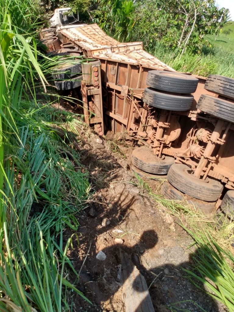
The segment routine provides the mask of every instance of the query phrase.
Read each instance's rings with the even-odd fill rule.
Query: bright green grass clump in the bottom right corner
[[[193,254],[194,270],[186,270],[192,282],[198,287],[205,285],[209,295],[227,306],[228,311],[234,310],[234,256],[223,249],[209,232],[198,236],[194,231],[187,232],[197,244]]]

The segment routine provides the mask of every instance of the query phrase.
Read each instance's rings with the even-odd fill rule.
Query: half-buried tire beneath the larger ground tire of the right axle
[[[185,201],[185,205],[188,203],[189,206],[192,206],[195,209],[199,209],[204,213],[210,213],[215,207],[216,202],[205,202],[200,199],[193,198],[191,196],[185,195],[174,188],[170,183],[164,182],[161,187],[161,192],[166,199],[176,200],[176,201]]]

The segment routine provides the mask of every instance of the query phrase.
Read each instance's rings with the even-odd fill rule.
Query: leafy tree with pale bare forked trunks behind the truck
[[[214,0],[143,0],[138,2],[138,12],[148,16],[143,17],[148,37],[163,41],[168,48],[180,48],[182,53],[188,46],[198,50],[203,36],[217,30],[222,15]],[[147,21],[149,16],[153,18]]]

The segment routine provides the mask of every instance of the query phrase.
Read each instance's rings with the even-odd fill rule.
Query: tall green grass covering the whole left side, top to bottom
[[[63,240],[90,193],[66,143],[80,124],[37,103],[35,82],[45,88],[46,79],[24,30],[33,3],[0,3],[0,310],[67,311],[68,289],[85,299],[65,275],[69,267],[78,278]]]

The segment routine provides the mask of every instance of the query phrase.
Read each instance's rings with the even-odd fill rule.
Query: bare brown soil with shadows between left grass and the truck
[[[90,172],[95,195],[80,212],[79,242],[74,238],[68,251],[80,272],[78,283],[72,276],[70,281],[92,305],[73,292],[72,311],[125,311],[120,256],[123,252],[144,276],[155,311],[227,311],[204,290],[196,288],[183,271],[192,269],[191,254],[196,251],[188,249],[191,238],[160,203],[137,186],[130,169],[132,145],[120,146],[126,155],[123,158],[119,147],[110,143],[110,134],[101,138],[101,144],[97,139],[100,138],[89,129],[79,145],[81,162]],[[160,194],[163,179],[148,182]],[[67,230],[64,237],[71,234]],[[100,251],[105,253],[105,260],[96,258]]]

